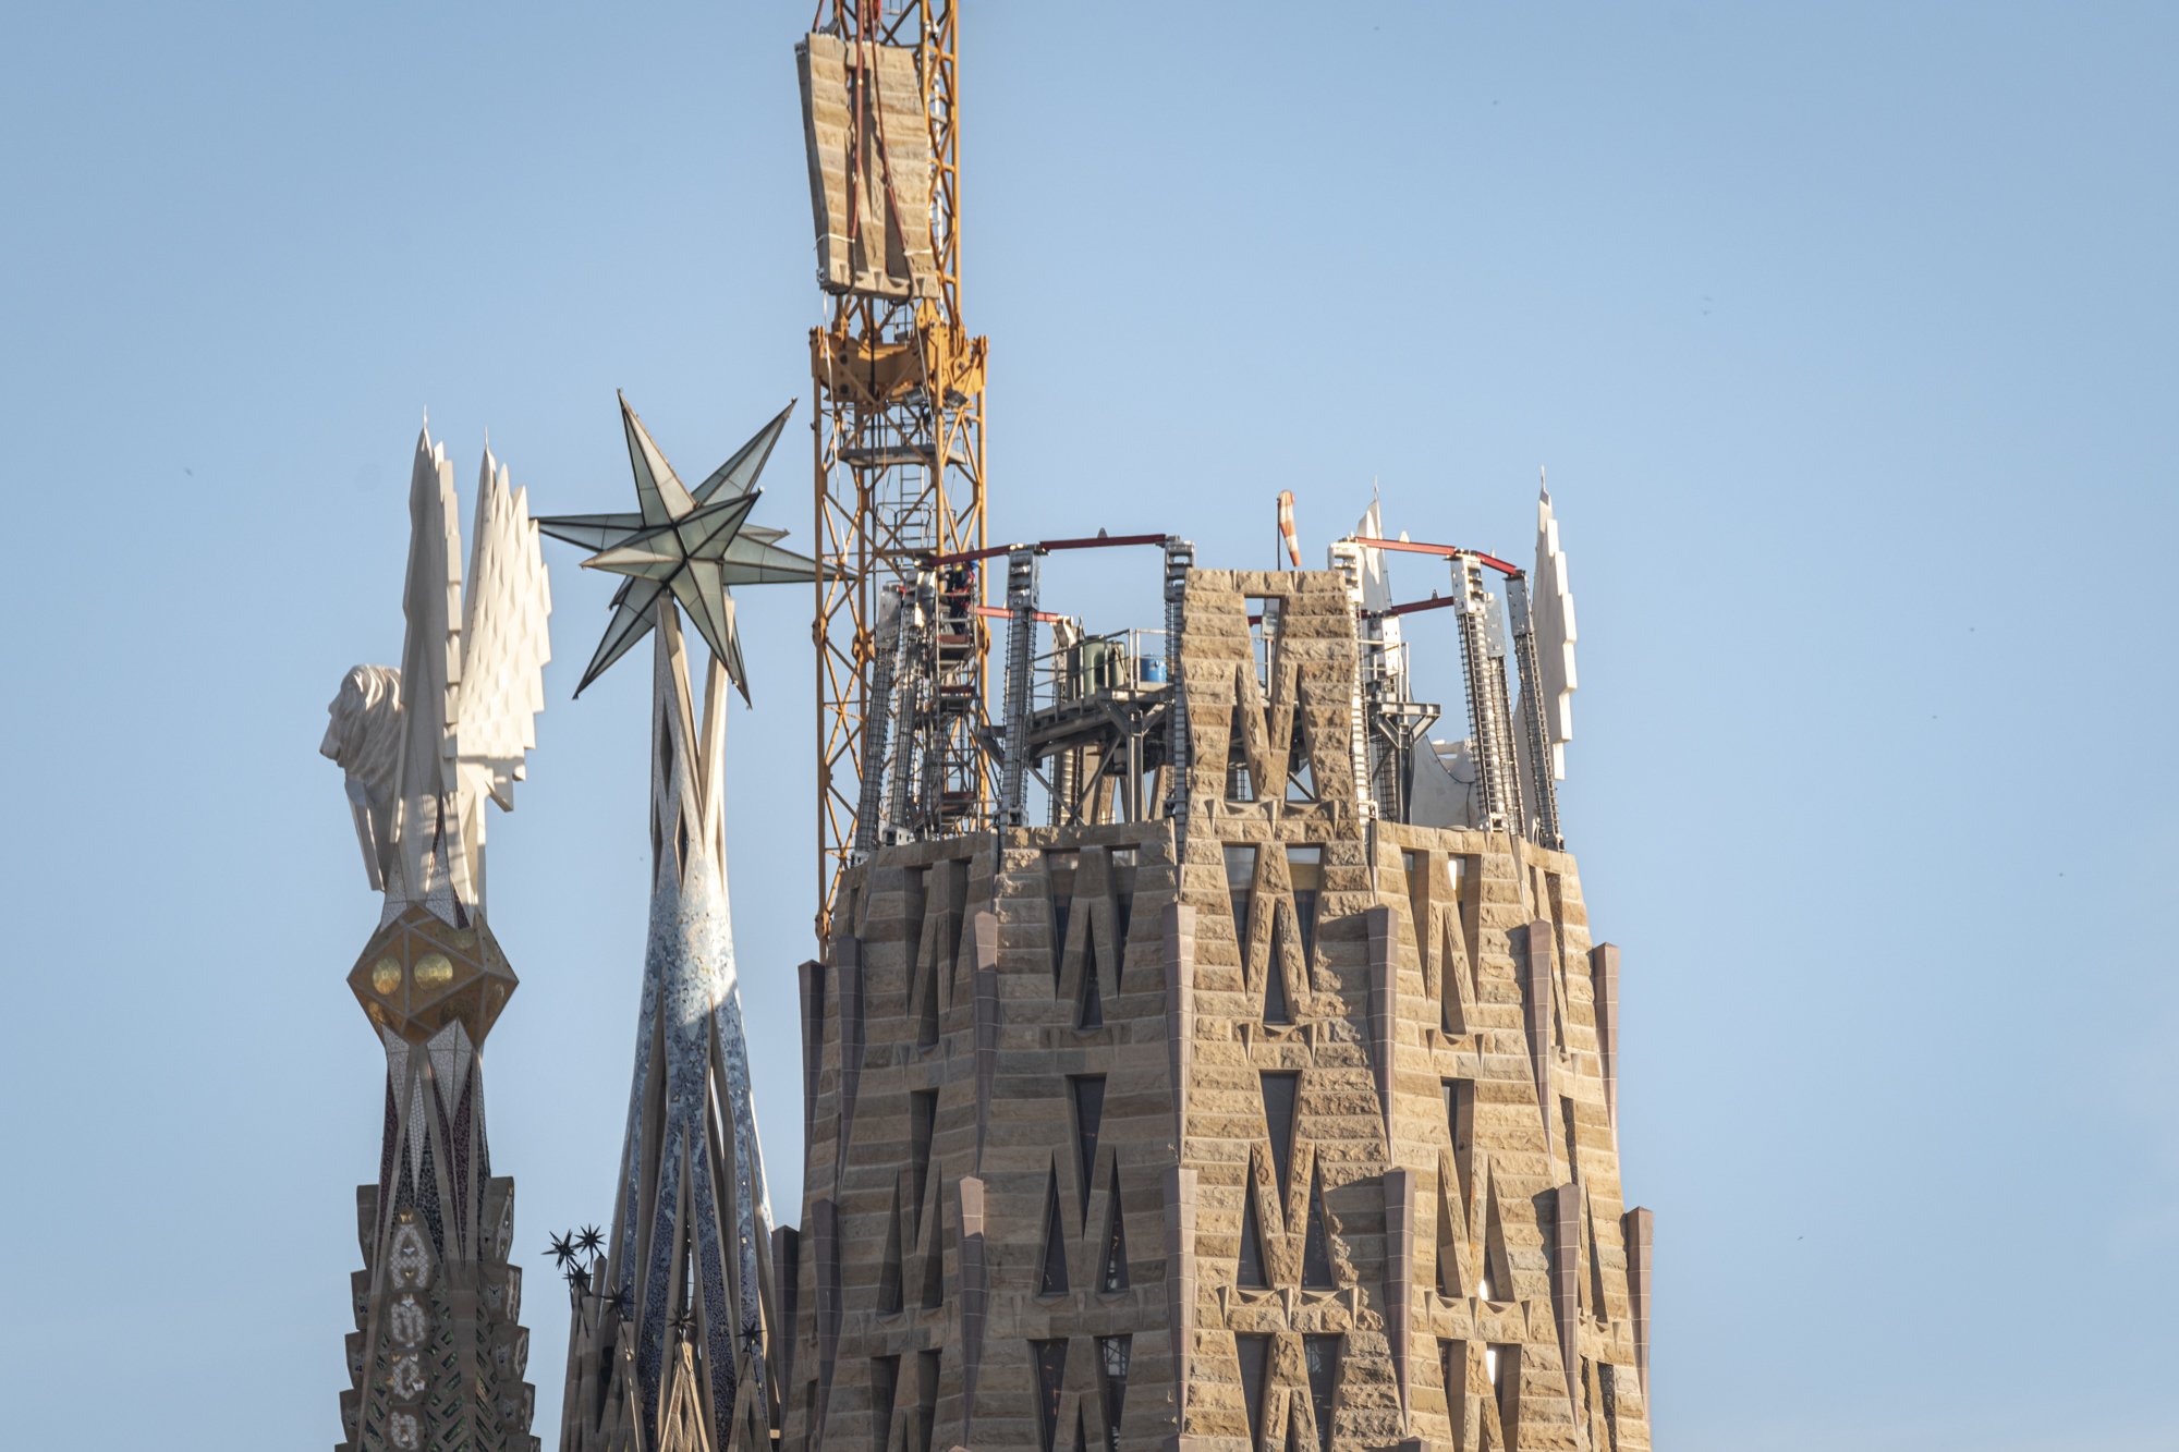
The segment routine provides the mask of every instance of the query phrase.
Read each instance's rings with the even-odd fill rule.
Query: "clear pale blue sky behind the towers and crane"
[[[336,1439],[381,1055],[316,741],[399,652],[418,416],[464,491],[490,429],[569,512],[625,508],[614,388],[691,477],[800,395],[758,517],[808,539],[806,20],[0,22],[22,1445]],[[1277,491],[1320,554],[1375,480],[1388,528],[1519,552],[1551,471],[1660,1445],[2179,1445],[2175,41],[2153,4],[970,4],[996,536],[1257,565]],[[610,584],[553,571],[488,1053],[547,1439],[532,1251],[608,1212],[647,852],[643,669],[567,700]],[[1046,602],[1155,624],[1155,567]],[[741,613],[793,1217],[808,597]]]

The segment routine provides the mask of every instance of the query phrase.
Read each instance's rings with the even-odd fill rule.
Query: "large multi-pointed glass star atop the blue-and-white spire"
[[[750,682],[741,669],[741,637],[734,632],[734,595],[730,584],[776,584],[815,578],[817,562],[793,549],[780,549],[787,530],[750,523],[750,510],[763,491],[756,475],[771,458],[771,445],[787,427],[793,403],[756,429],[750,443],[710,471],[695,488],[680,482],[673,464],[652,443],[636,410],[621,399],[621,429],[628,434],[628,462],[636,471],[634,515],[558,515],[538,519],[545,534],[591,549],[584,569],[610,569],[628,576],[612,597],[612,624],[597,654],[582,671],[575,695],[606,674],[628,650],[649,634],[658,610],[675,602],[702,632],[704,643],[726,665],[728,680],[750,700]]]

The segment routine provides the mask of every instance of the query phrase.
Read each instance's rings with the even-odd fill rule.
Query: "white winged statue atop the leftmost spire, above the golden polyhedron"
[[[453,464],[416,436],[401,669],[357,665],[318,750],[349,774],[364,872],[388,918],[412,903],[462,924],[484,900],[484,798],[514,783],[545,709],[551,589],[527,491],[484,451],[462,595]]]

